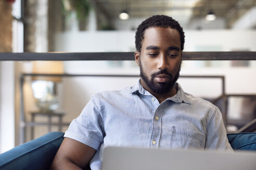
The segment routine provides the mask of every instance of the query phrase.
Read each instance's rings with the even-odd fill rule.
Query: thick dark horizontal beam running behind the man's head
[[[134,52],[0,53],[0,61],[134,60]],[[256,60],[256,51],[183,52],[183,60]]]

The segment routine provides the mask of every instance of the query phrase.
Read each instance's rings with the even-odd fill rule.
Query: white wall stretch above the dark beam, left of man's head
[[[66,32],[56,35],[55,51],[113,52],[133,51],[132,31]]]

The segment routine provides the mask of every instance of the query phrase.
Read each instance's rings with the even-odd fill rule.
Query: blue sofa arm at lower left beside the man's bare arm
[[[0,154],[0,169],[49,169],[63,135],[50,132]]]

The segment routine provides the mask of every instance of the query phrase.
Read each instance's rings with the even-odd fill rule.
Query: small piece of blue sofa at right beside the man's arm
[[[234,150],[256,150],[256,133],[227,134],[227,138]]]

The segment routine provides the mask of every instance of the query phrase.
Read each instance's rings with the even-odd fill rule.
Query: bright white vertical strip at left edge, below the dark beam
[[[15,146],[14,62],[0,62],[0,153]]]

